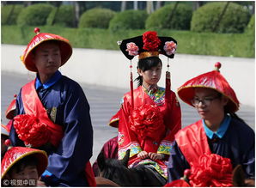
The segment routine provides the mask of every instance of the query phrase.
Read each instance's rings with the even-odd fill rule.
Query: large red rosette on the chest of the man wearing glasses
[[[192,164],[189,179],[192,186],[233,186],[231,161],[221,155],[201,155]]]

